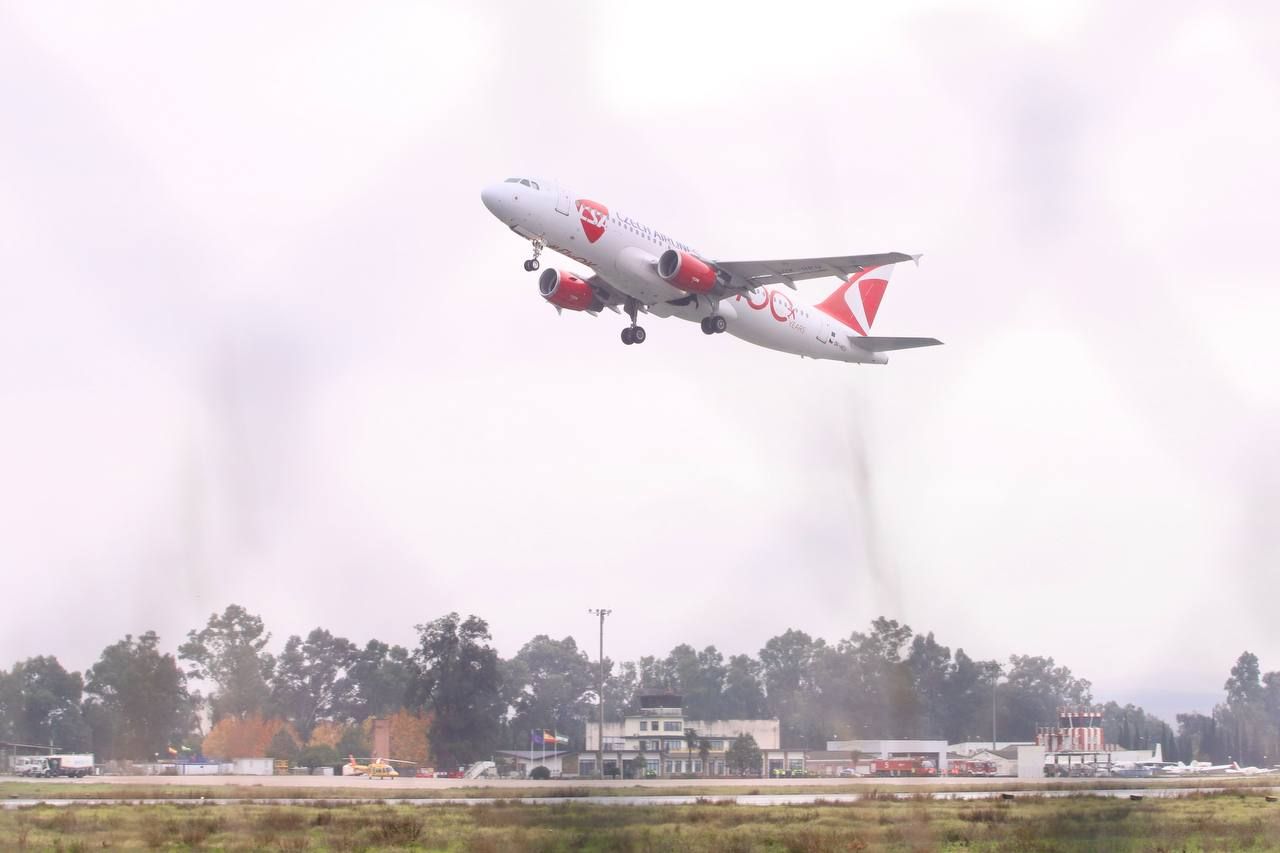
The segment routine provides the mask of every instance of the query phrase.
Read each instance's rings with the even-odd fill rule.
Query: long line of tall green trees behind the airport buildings
[[[415,630],[410,648],[358,646],[316,628],[273,651],[262,620],[230,605],[177,653],[148,631],[108,646],[83,674],[51,656],[0,670],[0,740],[92,749],[100,760],[178,752],[329,763],[367,754],[367,721],[390,717],[393,752],[440,767],[527,748],[534,729],[584,747],[599,665],[572,637],[540,634],[504,660],[477,616],[448,613]],[[1001,740],[1033,740],[1060,706],[1093,703],[1089,681],[1051,657],[974,660],[884,617],[833,643],[792,629],[755,656],[680,644],[663,657],[605,660],[604,670],[611,719],[635,710],[644,689],[668,689],[685,697],[690,720],[777,717],[790,749],[856,738],[988,740],[993,704]],[[1111,702],[1107,742],[1158,743],[1171,760],[1280,756],[1280,672],[1262,675],[1247,652],[1226,692],[1212,715],[1179,715],[1176,733]]]

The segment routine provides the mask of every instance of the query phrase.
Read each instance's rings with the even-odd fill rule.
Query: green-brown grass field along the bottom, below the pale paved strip
[[[37,806],[0,811],[0,849],[207,850],[1234,850],[1280,849],[1257,794],[1176,799],[865,800],[748,807]]]

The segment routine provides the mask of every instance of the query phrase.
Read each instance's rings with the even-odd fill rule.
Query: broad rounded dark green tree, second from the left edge
[[[187,679],[159,646],[155,631],[125,634],[90,667],[84,716],[101,758],[150,758],[191,733]]]

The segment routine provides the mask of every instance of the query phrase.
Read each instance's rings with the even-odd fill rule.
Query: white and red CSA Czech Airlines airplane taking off
[[[536,272],[550,248],[588,266],[581,278],[561,269],[538,277],[538,292],[557,311],[603,309],[626,313],[622,343],[644,343],[644,311],[698,323],[704,334],[730,334],[803,359],[887,364],[886,352],[929,347],[936,338],[873,337],[872,324],[893,265],[920,255],[882,252],[763,261],[709,260],[617,209],[585,199],[550,181],[507,178],[480,192],[485,207],[529,240]],[[836,277],[841,283],[818,302],[792,297],[783,287]]]

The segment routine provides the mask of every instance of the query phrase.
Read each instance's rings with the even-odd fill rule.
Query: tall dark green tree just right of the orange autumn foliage
[[[488,756],[498,744],[503,712],[498,653],[489,625],[457,613],[417,625],[413,658],[421,672],[417,701],[431,711],[431,749],[439,766]]]

